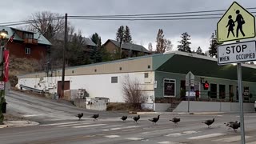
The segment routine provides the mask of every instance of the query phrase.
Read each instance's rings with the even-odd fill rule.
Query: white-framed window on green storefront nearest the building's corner
[[[164,97],[175,97],[176,81],[174,79],[164,79],[163,84]]]

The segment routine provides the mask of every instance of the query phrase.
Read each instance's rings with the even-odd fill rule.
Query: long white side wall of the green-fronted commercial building
[[[146,72],[149,73],[149,78],[144,78],[144,73],[145,72],[66,76],[65,81],[70,81],[70,90],[86,89],[90,97],[106,97],[110,98],[110,102],[124,102],[122,96],[122,82],[124,82],[126,76],[129,75],[131,80],[135,78],[138,79],[141,83],[142,90],[144,90],[148,96],[147,102],[152,103],[151,98],[154,98],[154,72]],[[111,83],[111,77],[118,77],[118,83]],[[22,84],[39,90],[48,90],[49,87],[54,87],[54,89],[50,91],[53,92],[55,90],[54,92],[57,92],[57,83],[61,80],[61,77],[19,78],[18,86]]]

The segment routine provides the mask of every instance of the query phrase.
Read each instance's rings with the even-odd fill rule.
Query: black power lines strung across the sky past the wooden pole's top
[[[256,7],[247,8],[247,10],[255,10]],[[221,13],[218,14],[200,14],[200,13],[213,13],[224,12],[226,10],[201,10],[201,11],[187,11],[187,12],[175,12],[175,13],[157,13],[157,14],[118,14],[118,15],[71,15],[69,19],[77,20],[96,20],[96,21],[175,21],[175,20],[202,20],[202,19],[217,19],[221,18]],[[251,12],[256,13],[256,12]],[[179,15],[177,15],[179,14]],[[182,15],[181,15],[182,14]],[[207,17],[206,17],[207,16]],[[210,17],[209,17],[210,16]],[[186,17],[186,18],[184,18]],[[196,18],[187,18],[196,17]],[[49,18],[48,20],[58,20],[64,17]],[[36,20],[26,20],[18,22],[2,22],[0,26],[17,26],[26,25]],[[46,19],[47,20],[47,19]]]

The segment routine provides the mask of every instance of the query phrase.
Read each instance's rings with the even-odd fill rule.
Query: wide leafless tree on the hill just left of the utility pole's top
[[[30,17],[30,30],[38,30],[48,40],[54,38],[55,34],[64,31],[64,18],[61,14],[42,11],[32,14]]]

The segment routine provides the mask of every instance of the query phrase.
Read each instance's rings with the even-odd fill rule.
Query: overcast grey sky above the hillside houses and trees
[[[0,22],[26,20],[38,11],[68,15],[104,14],[154,14],[201,10],[227,10],[233,0],[9,0],[1,2]],[[243,7],[256,7],[255,0],[236,1]],[[250,11],[250,10],[249,10]],[[179,21],[91,21],[70,20],[76,30],[82,30],[85,37],[97,32],[102,43],[114,39],[119,26],[129,26],[134,43],[147,48],[149,42],[155,47],[158,29],[164,31],[177,50],[180,35],[187,32],[191,36],[192,50],[201,46],[208,50],[210,35],[216,30],[218,19],[179,20]]]

